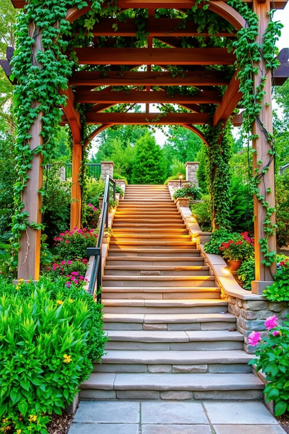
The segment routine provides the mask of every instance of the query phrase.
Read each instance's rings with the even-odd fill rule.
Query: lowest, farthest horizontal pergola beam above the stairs
[[[88,124],[111,125],[202,125],[210,122],[208,113],[85,113]]]

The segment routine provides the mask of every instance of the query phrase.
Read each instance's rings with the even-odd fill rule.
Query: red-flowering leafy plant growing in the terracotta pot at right
[[[219,250],[224,259],[238,261],[251,258],[254,255],[254,246],[254,240],[248,236],[248,232],[242,232],[238,240],[221,243]]]

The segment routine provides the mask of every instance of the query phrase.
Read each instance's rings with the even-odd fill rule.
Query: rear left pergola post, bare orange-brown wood
[[[70,208],[70,230],[74,227],[81,227],[81,186],[78,175],[80,173],[82,160],[82,145],[73,139],[72,149],[72,187],[71,187],[71,208]]]

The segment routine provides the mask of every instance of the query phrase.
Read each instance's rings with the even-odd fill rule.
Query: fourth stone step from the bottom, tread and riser
[[[230,313],[104,313],[105,330],[230,330],[236,317]]]

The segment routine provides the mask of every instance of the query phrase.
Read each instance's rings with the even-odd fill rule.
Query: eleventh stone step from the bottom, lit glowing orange
[[[139,247],[143,249],[157,249],[157,250],[171,250],[171,249],[177,249],[179,247],[180,250],[192,250],[194,247],[196,247],[196,244],[192,241],[114,241],[110,240],[110,248],[112,249],[121,249],[123,250],[123,247]]]

